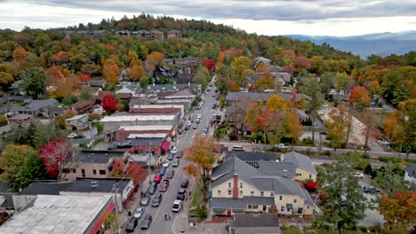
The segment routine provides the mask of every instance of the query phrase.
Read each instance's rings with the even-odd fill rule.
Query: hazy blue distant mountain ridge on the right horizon
[[[327,36],[327,35],[285,35],[300,41],[311,41],[312,43],[328,43],[340,51],[351,53],[367,58],[375,54],[388,56],[392,53],[401,55],[409,51],[416,51],[416,31],[405,31],[399,33],[380,33],[371,35],[352,36]]]

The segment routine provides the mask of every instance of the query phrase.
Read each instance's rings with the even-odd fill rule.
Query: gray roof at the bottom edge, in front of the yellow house
[[[235,214],[230,227],[279,227],[279,217],[273,213]]]

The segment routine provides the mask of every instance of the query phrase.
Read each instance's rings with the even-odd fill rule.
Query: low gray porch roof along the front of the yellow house
[[[247,205],[266,205],[272,206],[275,205],[275,198],[273,197],[244,197],[243,199],[211,199],[211,208],[228,208],[228,209],[245,209]]]

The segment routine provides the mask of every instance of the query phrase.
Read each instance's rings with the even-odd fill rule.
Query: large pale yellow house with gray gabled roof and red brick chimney
[[[237,157],[212,169],[210,207],[214,214],[265,212],[313,214],[314,202],[300,184],[280,175],[268,175]]]

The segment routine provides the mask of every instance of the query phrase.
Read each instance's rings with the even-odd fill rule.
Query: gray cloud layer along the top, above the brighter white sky
[[[2,0],[0,0],[1,2]],[[414,0],[26,0],[30,4],[204,19],[325,20],[414,16]]]

